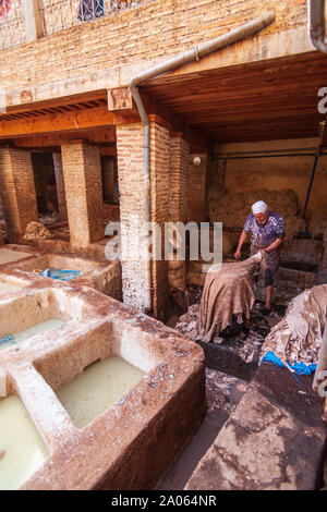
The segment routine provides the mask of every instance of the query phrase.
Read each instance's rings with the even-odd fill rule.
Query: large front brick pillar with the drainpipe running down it
[[[164,222],[168,220],[169,209],[169,133],[157,123],[152,123],[150,147],[152,221],[162,228],[164,239]],[[144,231],[133,225],[136,220],[142,223],[145,219],[141,123],[117,127],[117,150],[122,222],[123,301],[140,310],[146,310],[148,308],[147,261],[142,258],[144,254],[142,252],[146,251],[147,246]],[[129,255],[134,253],[134,247],[141,247],[142,254],[131,260]],[[152,308],[155,316],[161,317],[168,290],[166,261],[152,263]]]

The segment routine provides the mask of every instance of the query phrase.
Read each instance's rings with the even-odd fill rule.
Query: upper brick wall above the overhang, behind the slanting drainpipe
[[[166,59],[271,8],[277,20],[265,34],[306,25],[305,0],[157,0],[0,52],[0,83],[28,87]]]

